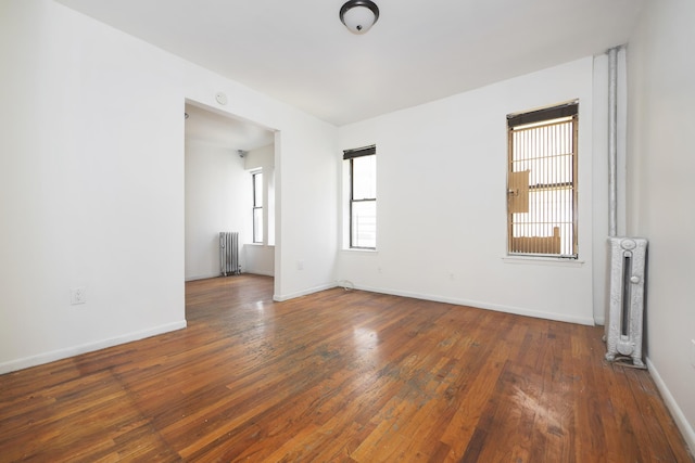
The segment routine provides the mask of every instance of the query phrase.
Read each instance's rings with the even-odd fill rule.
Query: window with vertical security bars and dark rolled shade
[[[507,116],[510,255],[577,258],[578,103]]]

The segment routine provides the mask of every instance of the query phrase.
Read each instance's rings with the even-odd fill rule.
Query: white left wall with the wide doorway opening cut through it
[[[281,133],[276,297],[334,280],[334,127],[50,0],[0,2],[0,372],[185,326],[187,99]]]

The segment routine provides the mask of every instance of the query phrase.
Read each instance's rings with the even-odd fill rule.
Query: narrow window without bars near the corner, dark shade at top
[[[350,163],[350,247],[377,248],[377,150],[343,152]]]

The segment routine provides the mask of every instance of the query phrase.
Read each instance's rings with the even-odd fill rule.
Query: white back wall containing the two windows
[[[598,164],[593,153],[593,59],[586,57],[342,127],[341,150],[377,145],[378,250],[341,252],[339,280],[592,324],[592,275],[605,272],[603,259],[594,265],[593,230],[607,220],[592,213],[595,193],[606,189],[592,182],[606,169],[605,151]],[[573,99],[580,101],[580,262],[503,259],[505,116]],[[338,154],[336,163],[342,163]]]

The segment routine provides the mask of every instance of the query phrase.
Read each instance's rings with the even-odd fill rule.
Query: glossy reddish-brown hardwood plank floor
[[[0,376],[0,461],[693,461],[599,327],[271,293],[190,282],[186,330]]]

